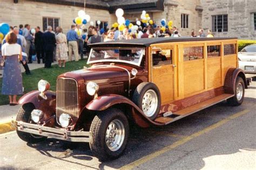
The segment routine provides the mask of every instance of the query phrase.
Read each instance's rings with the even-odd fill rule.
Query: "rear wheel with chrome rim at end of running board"
[[[242,104],[242,101],[244,101],[245,96],[245,83],[241,77],[237,77],[234,91],[235,95],[227,99],[227,103],[231,106],[239,106]]]

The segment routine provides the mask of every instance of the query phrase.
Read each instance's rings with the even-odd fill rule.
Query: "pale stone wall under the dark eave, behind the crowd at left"
[[[59,5],[41,2],[29,2],[19,0],[17,4],[13,0],[0,0],[0,23],[9,23],[11,26],[19,24],[30,24],[31,28],[40,26],[43,28],[43,17],[54,17],[60,19],[60,26],[66,32],[73,24],[73,19],[77,17],[77,12],[84,8],[70,5]],[[111,22],[112,17],[107,10],[86,9],[91,16],[91,21]],[[89,24],[86,24],[89,26]]]

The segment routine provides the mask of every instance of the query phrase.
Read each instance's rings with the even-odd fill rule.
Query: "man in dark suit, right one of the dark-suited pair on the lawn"
[[[48,26],[47,31],[43,35],[44,40],[44,51],[45,51],[45,68],[50,68],[53,58],[53,51],[56,45],[55,35],[51,33],[52,27]]]

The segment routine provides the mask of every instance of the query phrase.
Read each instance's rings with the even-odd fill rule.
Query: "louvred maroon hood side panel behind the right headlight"
[[[124,84],[119,83],[119,84],[114,84],[114,85],[107,86],[107,87],[100,87],[98,93],[99,93],[99,96],[102,96],[104,94],[122,95],[122,94],[124,94]]]

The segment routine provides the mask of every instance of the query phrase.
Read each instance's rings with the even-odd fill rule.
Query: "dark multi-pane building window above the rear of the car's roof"
[[[213,15],[212,16],[212,31],[213,32],[227,32],[227,15]]]

